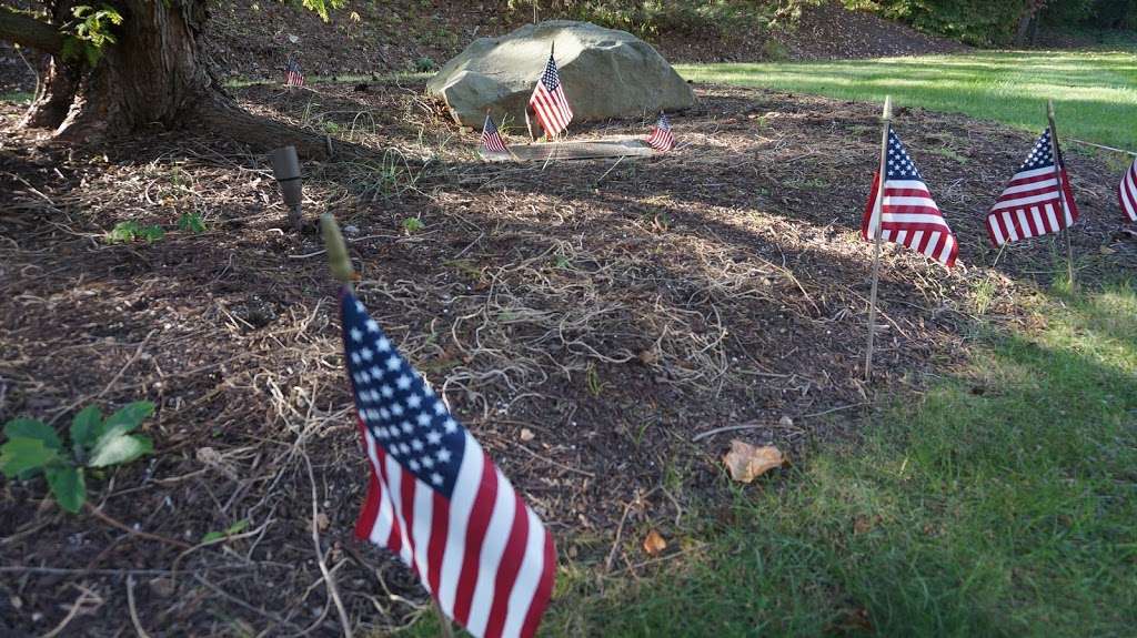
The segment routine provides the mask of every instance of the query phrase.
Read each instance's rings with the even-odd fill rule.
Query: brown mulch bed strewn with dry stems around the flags
[[[240,98],[390,149],[368,167],[307,165],[307,215],[338,215],[373,316],[541,513],[559,560],[587,572],[647,569],[638,539],[613,548],[626,512],[628,526],[666,534],[729,509],[719,457],[731,438],[797,462],[816,443],[855,440],[878,398],[951,375],[980,321],[1019,321],[1019,301],[1062,269],[1049,240],[988,266],[982,211],[1029,136],[902,110],[898,131],[963,251],[948,274],[886,246],[879,373],[864,384],[871,250],[856,229],[875,107],[699,86],[669,156],[499,166],[478,162],[476,136],[421,93]],[[317,236],[284,229],[264,158],[184,134],[98,149],[17,131],[0,141],[0,420],[63,430],[89,402],[157,403],[144,427],[156,454],[88,487],[107,517],[167,539],[66,514],[42,479],[3,481],[0,633],[338,635],[314,521],[358,628],[389,632],[423,613],[408,571],[350,538],[366,469],[335,286]],[[1111,234],[1113,173],[1069,161],[1092,280],[1137,246]],[[186,211],[206,233],[105,238],[123,220],[173,228]],[[407,232],[410,217],[424,228]],[[989,305],[977,307],[979,288]],[[737,425],[755,427],[691,440]],[[238,521],[227,542],[197,545]]]

